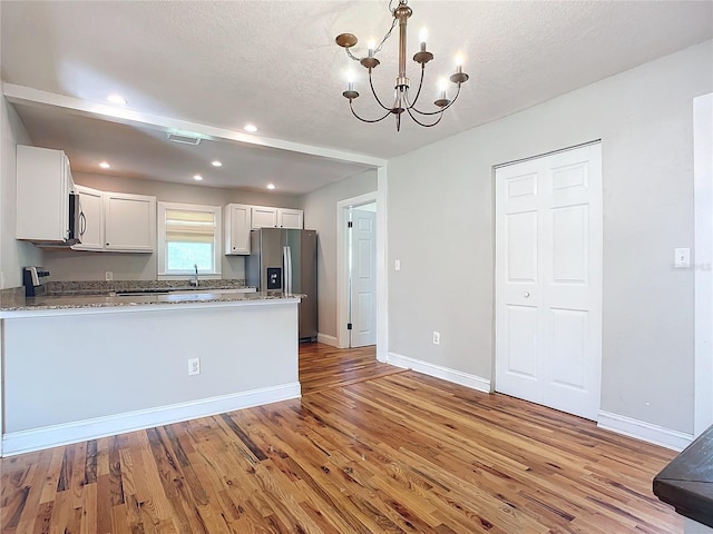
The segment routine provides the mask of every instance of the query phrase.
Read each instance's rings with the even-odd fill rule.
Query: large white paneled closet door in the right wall
[[[596,419],[602,155],[588,145],[496,170],[496,389]]]

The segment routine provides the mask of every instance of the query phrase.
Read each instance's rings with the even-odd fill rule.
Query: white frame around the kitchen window
[[[203,279],[221,279],[223,277],[222,266],[222,244],[223,244],[223,220],[221,206],[208,206],[204,204],[183,204],[183,202],[157,202],[158,206],[158,231],[157,234],[157,248],[158,248],[158,279],[159,280],[187,280],[193,278],[194,271],[168,271],[168,248],[166,240],[166,210],[178,211],[198,211],[213,214],[215,220],[215,231],[213,233],[213,271],[198,269],[198,276]]]

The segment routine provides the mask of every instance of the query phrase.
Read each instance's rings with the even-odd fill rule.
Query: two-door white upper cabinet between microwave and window
[[[81,244],[75,250],[153,253],[156,197],[107,192],[77,186],[84,212]]]

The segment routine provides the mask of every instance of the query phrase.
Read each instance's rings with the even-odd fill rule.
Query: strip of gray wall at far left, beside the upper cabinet
[[[42,265],[42,251],[18,241],[16,228],[16,144],[31,145],[30,136],[12,106],[0,97],[0,289],[22,285],[22,267]]]

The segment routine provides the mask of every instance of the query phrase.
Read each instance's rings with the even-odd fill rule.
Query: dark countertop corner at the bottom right
[[[681,515],[713,528],[713,426],[654,477],[654,494]]]

